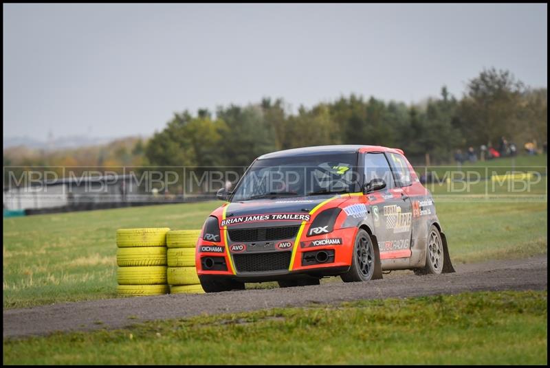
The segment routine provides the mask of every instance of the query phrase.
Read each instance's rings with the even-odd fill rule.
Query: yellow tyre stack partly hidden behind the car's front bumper
[[[195,268],[195,247],[200,230],[172,230],[166,234],[170,294],[203,293]]]

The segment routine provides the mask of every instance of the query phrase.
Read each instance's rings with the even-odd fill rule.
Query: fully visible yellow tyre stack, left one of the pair
[[[168,293],[167,227],[118,229],[116,232],[117,292],[123,295]]]

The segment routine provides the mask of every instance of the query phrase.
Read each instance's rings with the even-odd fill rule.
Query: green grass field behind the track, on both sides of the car
[[[547,253],[546,176],[534,186],[533,192],[544,196],[536,200],[454,193],[456,199],[449,199],[444,186],[434,195],[454,262]],[[219,205],[211,201],[4,218],[3,307],[115,297],[116,229],[199,229]]]

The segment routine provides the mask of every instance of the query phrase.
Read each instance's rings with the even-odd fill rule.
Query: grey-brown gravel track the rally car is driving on
[[[547,290],[547,255],[522,260],[455,265],[456,273],[415,276],[392,273],[364,283],[328,282],[320,286],[250,289],[203,295],[159,295],[58,303],[3,311],[3,337],[56,331],[118,328],[156,319],[192,317],[338,303],[360,299],[418,297],[481,290]]]

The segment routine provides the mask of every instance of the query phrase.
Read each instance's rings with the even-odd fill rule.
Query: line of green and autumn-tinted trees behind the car
[[[351,94],[289,113],[283,99],[176,113],[145,148],[151,165],[247,166],[266,152],[327,144],[401,148],[413,164],[448,163],[452,152],[522,146],[547,136],[547,89],[530,89],[509,72],[483,70],[460,99],[443,87],[438,98],[407,106]],[[544,137],[544,138],[543,138]],[[429,161],[429,162],[426,162]]]

